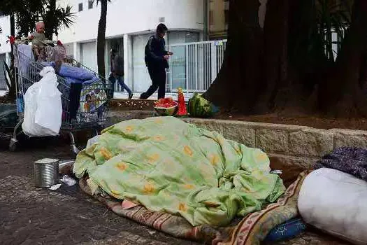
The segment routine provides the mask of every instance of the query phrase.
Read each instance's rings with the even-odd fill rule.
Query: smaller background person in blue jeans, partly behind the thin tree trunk
[[[115,88],[116,80],[121,85],[122,91],[126,90],[129,93],[129,99],[133,97],[133,92],[131,89],[124,83],[124,58],[121,55],[118,55],[116,50],[110,50],[110,58],[111,58],[111,73],[108,80],[112,84],[111,92],[113,97],[113,92]]]

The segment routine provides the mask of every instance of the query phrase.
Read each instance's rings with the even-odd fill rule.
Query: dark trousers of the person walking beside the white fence
[[[166,95],[166,69],[164,67],[147,66],[152,85],[147,92],[141,94],[141,99],[147,99],[158,90],[158,99],[164,99]]]

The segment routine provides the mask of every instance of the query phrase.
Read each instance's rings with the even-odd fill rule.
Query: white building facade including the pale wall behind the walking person
[[[106,75],[110,71],[109,50],[115,48],[124,57],[125,83],[134,92],[143,92],[151,85],[144,63],[144,48],[159,23],[169,31],[166,44],[201,41],[204,29],[205,0],[112,0],[108,3],[106,27]],[[97,70],[96,38],[101,6],[90,0],[59,0],[60,6],[73,7],[76,18],[69,29],[59,30],[59,40],[68,55]],[[10,45],[9,19],[0,18],[3,34],[0,38],[0,59],[8,57]],[[47,23],[45,23],[47,25]],[[1,72],[1,71],[0,71]]]

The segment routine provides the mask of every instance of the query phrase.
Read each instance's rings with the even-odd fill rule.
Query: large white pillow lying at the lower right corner
[[[367,182],[335,169],[317,169],[303,181],[298,210],[306,223],[367,244]]]

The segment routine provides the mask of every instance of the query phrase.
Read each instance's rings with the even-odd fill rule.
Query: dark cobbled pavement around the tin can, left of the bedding
[[[195,244],[117,216],[78,186],[35,188],[33,162],[70,159],[67,144],[0,153],[1,244]]]

